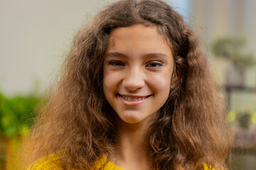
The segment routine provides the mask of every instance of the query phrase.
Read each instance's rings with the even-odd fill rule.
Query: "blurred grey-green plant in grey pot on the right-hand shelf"
[[[211,46],[215,57],[221,57],[231,62],[226,70],[226,83],[228,87],[244,87],[245,72],[248,67],[256,64],[252,53],[245,51],[245,38],[219,38]]]

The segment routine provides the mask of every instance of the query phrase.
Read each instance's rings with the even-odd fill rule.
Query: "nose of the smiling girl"
[[[143,71],[139,68],[132,68],[125,73],[122,85],[129,91],[142,89],[145,85]]]

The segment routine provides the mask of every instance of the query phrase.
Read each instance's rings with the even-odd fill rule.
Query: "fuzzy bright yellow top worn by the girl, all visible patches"
[[[100,169],[103,164],[107,162],[106,157],[102,157],[99,161],[96,162],[96,169]],[[43,157],[40,159],[36,164],[33,164],[33,166],[29,167],[28,170],[60,170],[60,167],[58,166],[60,164],[60,159],[57,154],[50,154],[48,157]],[[204,170],[215,170],[211,166],[208,166],[207,164],[202,164]],[[118,166],[113,164],[112,162],[107,162],[105,164],[105,170],[124,170],[120,169]]]

